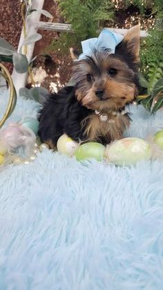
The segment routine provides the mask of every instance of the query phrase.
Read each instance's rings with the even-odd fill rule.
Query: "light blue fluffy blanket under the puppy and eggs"
[[[10,121],[37,110],[19,99]],[[162,111],[131,111],[128,136],[163,126]],[[81,164],[48,149],[31,164],[1,167],[0,289],[162,290],[162,176],[160,160]]]

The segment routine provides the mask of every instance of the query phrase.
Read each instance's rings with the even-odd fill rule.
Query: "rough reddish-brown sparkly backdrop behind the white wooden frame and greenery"
[[[52,22],[64,22],[64,19],[59,15],[57,1],[45,0],[44,9],[50,12],[53,16]],[[0,6],[0,37],[5,38],[17,48],[19,44],[19,37],[22,28],[21,19],[21,1],[20,0],[1,0]],[[147,12],[147,15],[150,11]],[[49,21],[48,18],[41,16],[42,21]],[[123,7],[119,6],[119,10],[115,15],[114,27],[129,28],[131,25],[141,23],[141,28],[146,29],[153,25],[151,17],[140,17],[139,11],[132,7],[128,8],[125,13]],[[113,26],[106,23],[106,26]],[[52,39],[57,39],[59,33],[51,31],[38,31],[42,35],[42,40],[36,42],[33,56],[43,55],[47,46],[52,42]],[[49,90],[55,90],[63,86],[70,79],[71,59],[69,52],[61,56],[59,51],[50,51],[48,53],[50,58],[38,56],[34,63],[34,76],[38,84]],[[12,71],[12,66],[7,65]],[[30,79],[28,80],[28,87],[31,86]]]

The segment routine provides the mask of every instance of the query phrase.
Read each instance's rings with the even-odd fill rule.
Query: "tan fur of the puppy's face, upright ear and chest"
[[[140,25],[129,29],[124,40],[122,48],[127,49],[127,52],[133,56],[135,62],[139,62],[140,52]],[[74,57],[74,56],[73,56]],[[107,114],[108,119],[113,119],[114,122],[103,122],[93,113],[84,119],[83,126],[87,124],[85,134],[87,139],[97,141],[99,137],[105,137],[108,142],[115,139],[121,139],[125,128],[129,126],[128,117],[119,115],[113,117],[111,112],[119,112],[126,104],[131,103],[137,95],[136,84],[133,83],[133,77],[137,69],[131,69],[129,64],[124,62],[118,55],[113,56],[101,53],[97,54],[93,62],[100,67],[100,74],[96,71],[95,66],[89,65],[88,62],[81,60],[76,67],[76,79],[81,79],[82,86],[76,90],[77,100],[86,108],[97,110],[102,114]],[[135,66],[137,67],[137,66]],[[115,69],[117,74],[111,76],[110,69]],[[88,82],[86,76],[92,76],[91,82]],[[97,89],[103,90],[102,99],[96,92]]]

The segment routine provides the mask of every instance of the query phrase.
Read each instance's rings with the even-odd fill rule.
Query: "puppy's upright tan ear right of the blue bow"
[[[131,56],[133,56],[134,62],[140,61],[140,25],[133,26],[128,29],[126,35],[124,35],[123,43],[126,44],[126,49]]]

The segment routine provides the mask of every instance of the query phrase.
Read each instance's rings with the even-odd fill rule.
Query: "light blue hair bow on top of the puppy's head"
[[[115,47],[122,42],[123,35],[118,33],[112,33],[108,29],[104,28],[99,34],[99,37],[90,38],[81,42],[82,51],[78,60],[83,60],[86,56],[91,56],[94,50],[104,51],[109,49],[111,53],[115,53]]]

